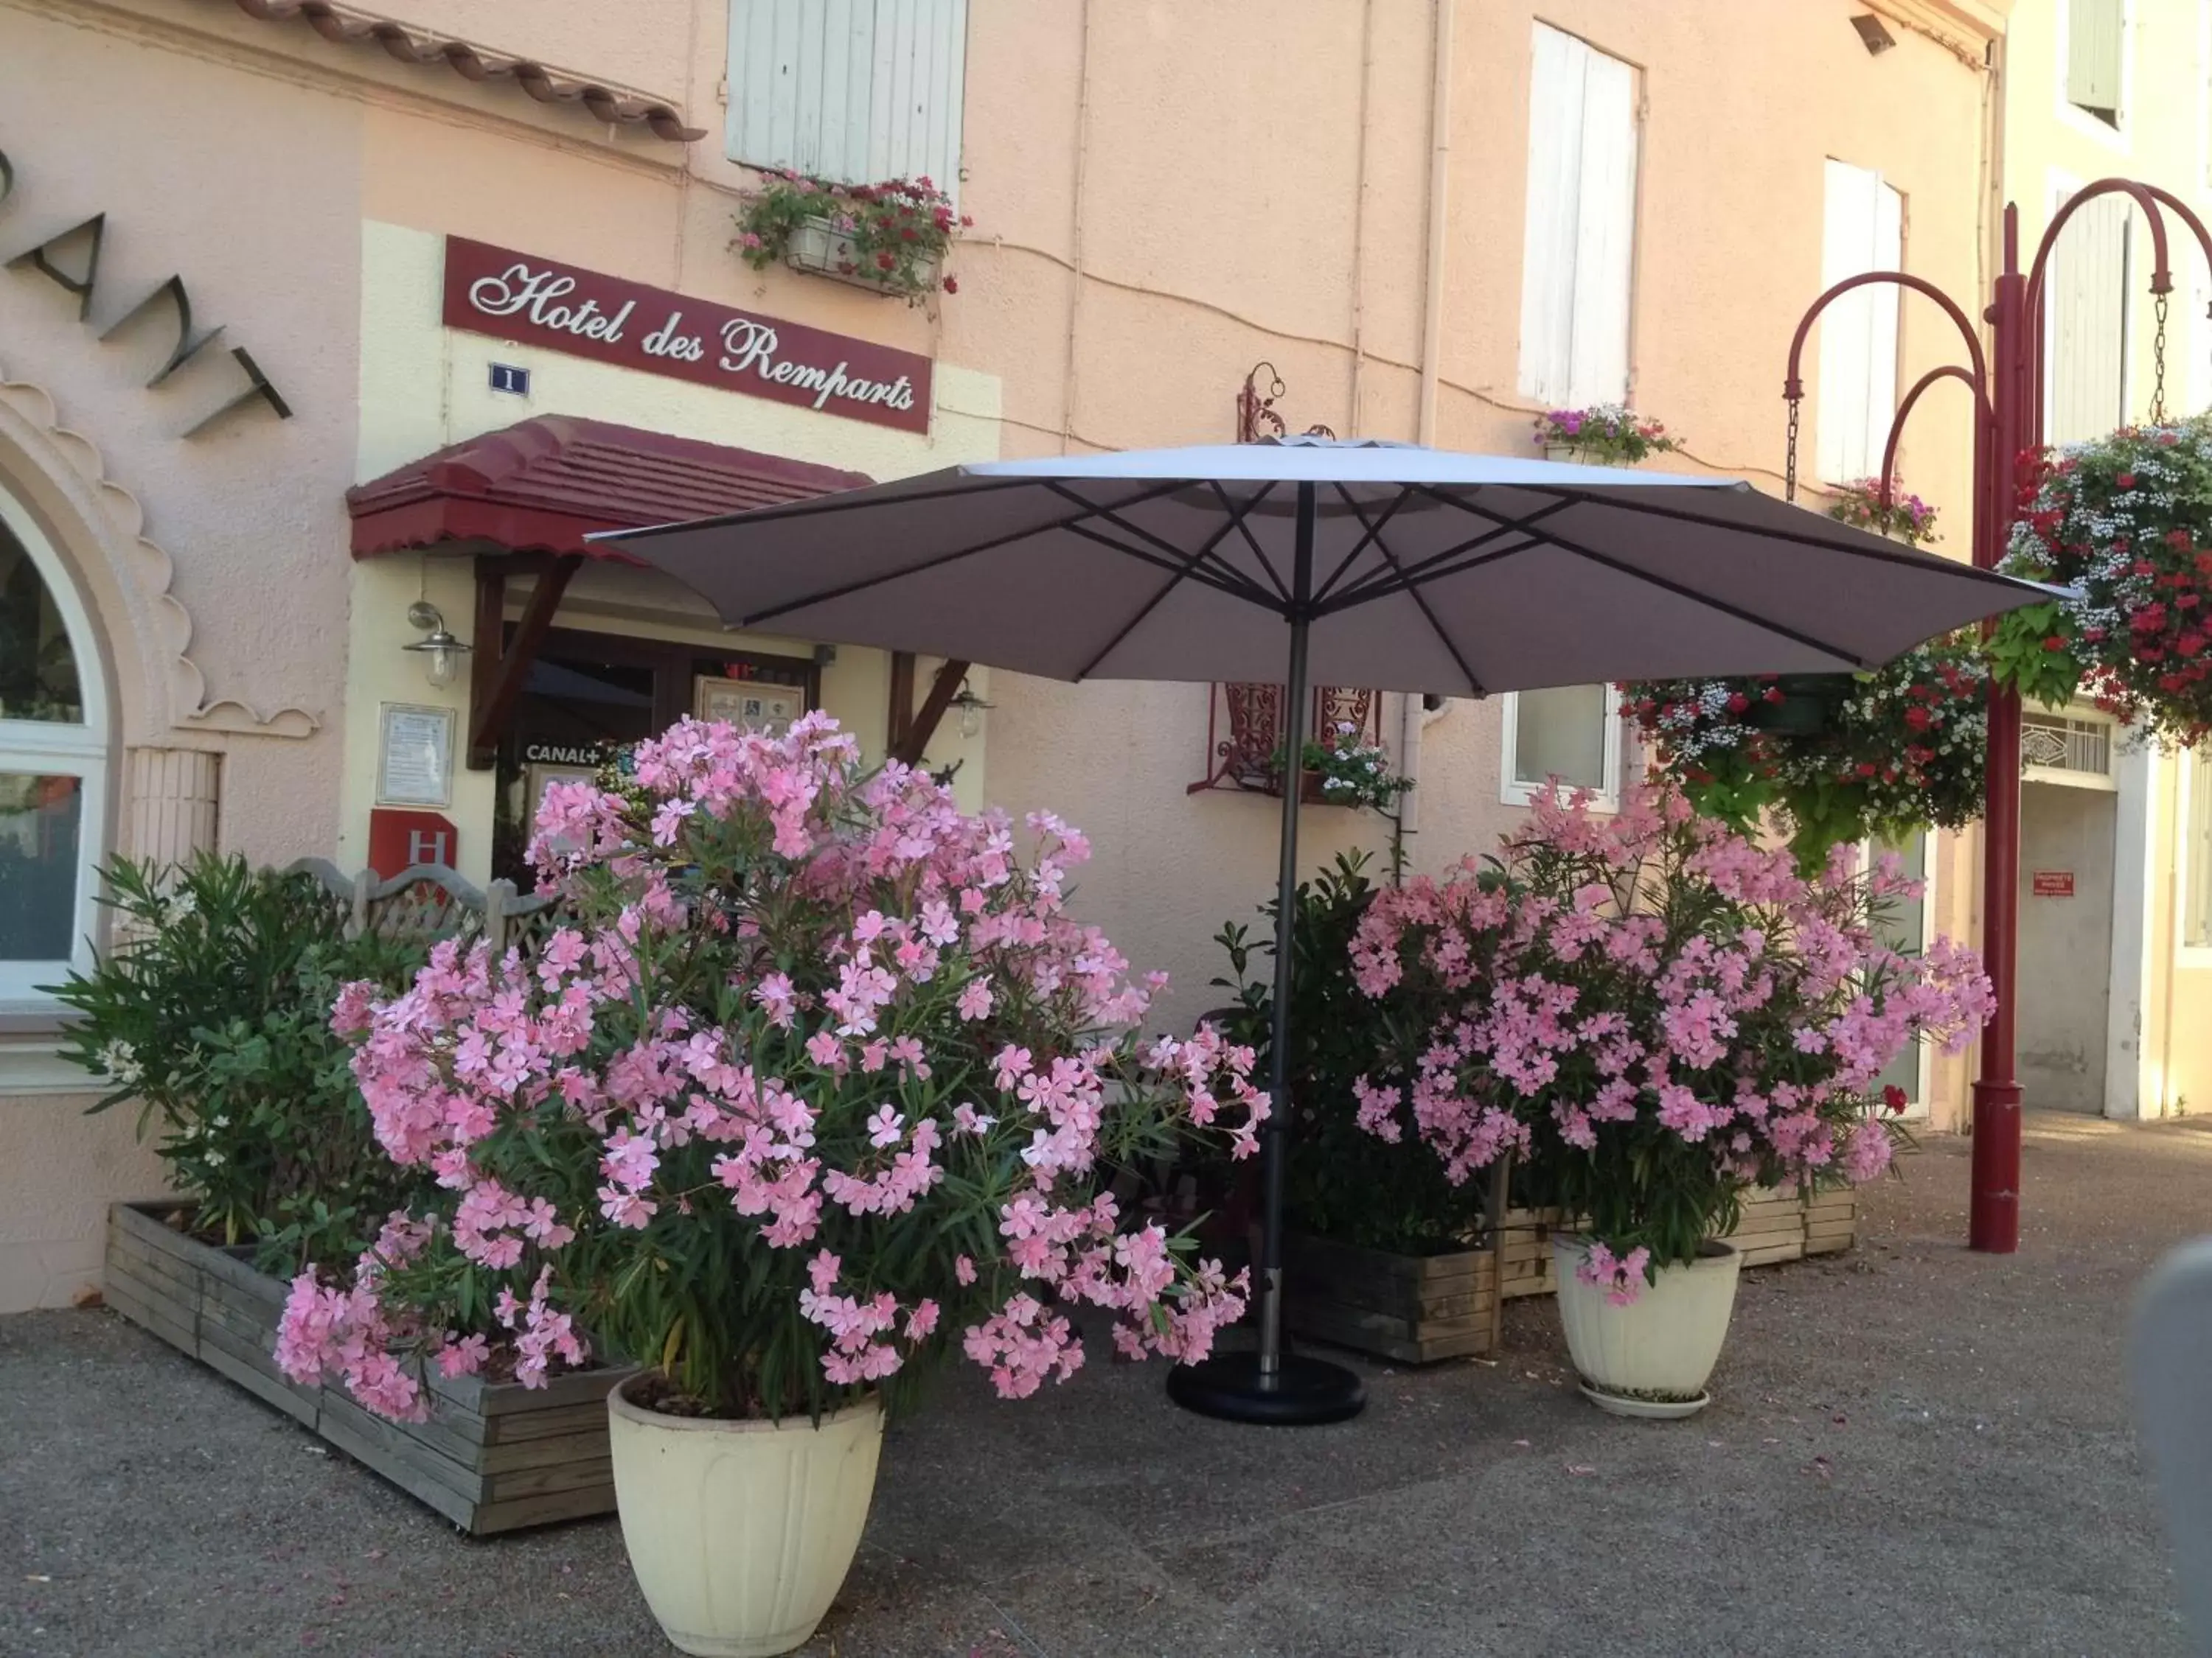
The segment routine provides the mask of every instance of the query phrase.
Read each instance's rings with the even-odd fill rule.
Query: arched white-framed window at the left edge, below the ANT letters
[[[0,1008],[91,964],[108,710],[91,619],[0,493]]]

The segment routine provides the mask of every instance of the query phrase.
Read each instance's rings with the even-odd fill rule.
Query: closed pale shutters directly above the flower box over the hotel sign
[[[960,188],[967,0],[730,0],[732,161]]]

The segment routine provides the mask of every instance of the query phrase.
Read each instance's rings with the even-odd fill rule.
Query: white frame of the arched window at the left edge
[[[100,931],[100,864],[106,858],[108,836],[108,692],[97,634],[77,584],[46,533],[4,489],[0,489],[0,524],[31,555],[31,568],[53,597],[69,632],[69,650],[77,659],[77,692],[84,699],[82,725],[0,718],[0,772],[73,776],[84,783],[77,814],[77,928],[71,951],[66,957],[42,962],[0,962],[0,1012],[53,1012],[60,1004],[51,995],[40,995],[38,986],[53,984],[71,970],[88,973]]]

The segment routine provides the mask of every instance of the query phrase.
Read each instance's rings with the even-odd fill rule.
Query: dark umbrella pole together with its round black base
[[[1225,1421],[1301,1426],[1343,1421],[1367,1404],[1358,1375],[1327,1360],[1283,1353],[1283,1180],[1290,1163],[1290,986],[1298,917],[1298,796],[1305,785],[1305,643],[1314,592],[1314,486],[1298,484],[1290,601],[1290,670],[1283,683],[1283,838],[1274,882],[1274,1008],[1267,1028],[1270,1114],[1261,1130],[1261,1229],[1254,1291],[1259,1349],[1219,1353],[1168,1373],[1168,1397]]]

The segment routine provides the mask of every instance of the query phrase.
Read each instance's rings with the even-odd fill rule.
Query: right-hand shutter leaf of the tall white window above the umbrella
[[[1575,327],[1566,400],[1626,402],[1637,234],[1637,71],[1584,51]]]

